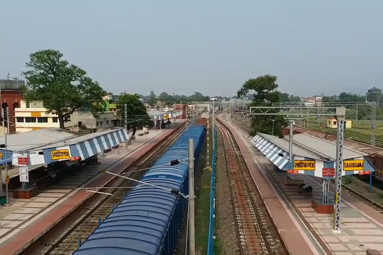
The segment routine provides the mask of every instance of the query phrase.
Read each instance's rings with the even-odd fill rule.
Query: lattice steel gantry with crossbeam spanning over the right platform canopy
[[[270,107],[250,107],[250,115],[281,115],[290,119],[290,141],[289,141],[289,160],[292,161],[292,143],[293,143],[293,119],[301,119],[303,116],[317,116],[320,113],[323,116],[335,117],[338,121],[337,132],[337,151],[336,151],[336,192],[334,198],[334,224],[333,231],[340,232],[339,218],[341,211],[341,188],[342,188],[342,162],[343,162],[343,135],[344,123],[346,119],[345,107],[302,107],[297,105],[280,105]],[[322,201],[328,202],[329,183],[323,182]]]

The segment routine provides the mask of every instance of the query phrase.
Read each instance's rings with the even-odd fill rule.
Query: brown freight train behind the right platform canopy
[[[319,137],[322,139],[326,139],[329,141],[336,142],[337,136],[334,134],[329,134],[326,132],[310,129],[310,128],[301,128],[301,127],[294,127],[294,134],[296,133],[307,133],[315,137]],[[283,135],[288,135],[290,130],[288,127],[281,129]],[[346,147],[356,149],[362,152],[365,152],[368,155],[368,158],[370,162],[374,164],[374,166],[377,168],[377,171],[375,171],[374,175],[383,179],[383,148],[372,146],[366,143],[361,143],[358,141],[353,141],[350,139],[344,139],[344,145]]]

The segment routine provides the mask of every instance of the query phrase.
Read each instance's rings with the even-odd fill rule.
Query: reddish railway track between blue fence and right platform
[[[283,243],[258,193],[239,147],[231,132],[219,120],[217,127],[224,141],[226,168],[230,180],[231,199],[241,255],[284,255]]]

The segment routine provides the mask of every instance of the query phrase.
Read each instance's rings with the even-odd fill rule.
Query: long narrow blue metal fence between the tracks
[[[217,130],[213,126],[214,142],[213,153],[211,155],[211,176],[210,176],[210,211],[209,211],[209,236],[207,243],[207,255],[213,254],[213,240],[214,240],[214,208],[215,208],[215,150],[217,146]]]

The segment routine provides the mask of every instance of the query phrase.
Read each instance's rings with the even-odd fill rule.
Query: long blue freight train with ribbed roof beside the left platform
[[[172,255],[188,203],[189,138],[197,169],[204,136],[203,125],[189,127],[141,179],[172,192],[139,183],[72,255]]]

